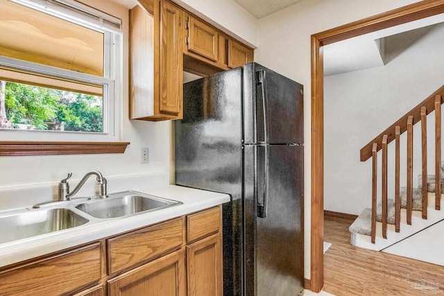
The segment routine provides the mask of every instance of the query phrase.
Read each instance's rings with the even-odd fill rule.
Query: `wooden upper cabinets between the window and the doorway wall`
[[[130,119],[182,119],[184,70],[208,76],[253,61],[253,49],[174,3],[138,3],[130,10]]]

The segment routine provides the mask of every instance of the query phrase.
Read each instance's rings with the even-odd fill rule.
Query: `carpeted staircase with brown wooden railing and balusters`
[[[370,250],[384,250],[444,220],[444,210],[440,211],[441,193],[444,193],[444,180],[441,180],[441,171],[444,168],[444,162],[441,162],[443,98],[444,85],[361,149],[361,162],[368,159],[372,161],[372,207],[364,209],[350,226],[352,245]],[[435,140],[434,175],[427,175],[427,117],[433,111],[435,128],[434,133],[429,133],[429,137],[433,134]],[[416,123],[421,125],[422,159],[420,164],[415,165],[420,165],[422,174],[419,176],[418,188],[413,188],[413,125]],[[400,187],[400,135],[404,132],[407,132],[407,159],[403,159],[407,168],[407,186]],[[387,190],[387,147],[392,141],[395,145],[395,192],[394,197],[390,199]],[[378,155],[382,157],[382,168],[379,171],[382,180],[379,182]],[[377,193],[380,193],[379,198]]]

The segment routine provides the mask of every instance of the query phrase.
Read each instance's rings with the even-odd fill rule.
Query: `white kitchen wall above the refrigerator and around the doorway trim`
[[[312,34],[399,8],[414,0],[305,0],[259,19],[255,60],[305,88],[305,277],[310,278]],[[325,176],[327,177],[327,176]]]

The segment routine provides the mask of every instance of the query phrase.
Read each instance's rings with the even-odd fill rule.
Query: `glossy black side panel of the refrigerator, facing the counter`
[[[175,122],[176,184],[228,193],[223,204],[223,285],[241,295],[241,69],[184,85],[184,117]]]

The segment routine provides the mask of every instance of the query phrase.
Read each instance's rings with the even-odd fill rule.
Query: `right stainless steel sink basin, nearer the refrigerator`
[[[92,202],[78,204],[76,208],[94,218],[103,219],[129,216],[146,211],[156,211],[177,204],[182,204],[182,202],[168,200],[166,198],[157,198],[157,196],[153,195],[135,193],[135,191],[126,191],[126,194],[116,193],[103,200],[94,200]]]

